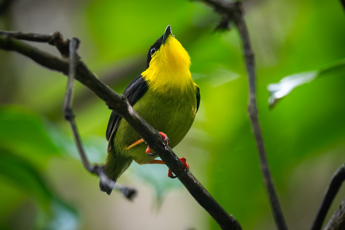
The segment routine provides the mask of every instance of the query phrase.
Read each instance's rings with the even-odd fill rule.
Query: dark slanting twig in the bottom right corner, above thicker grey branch
[[[340,166],[333,174],[331,178],[331,182],[329,183],[325,196],[321,202],[321,206],[317,212],[317,215],[314,219],[313,225],[311,230],[320,230],[322,227],[322,223],[325,220],[326,214],[328,212],[329,207],[334,200],[335,195],[339,191],[340,186],[345,180],[345,163]]]

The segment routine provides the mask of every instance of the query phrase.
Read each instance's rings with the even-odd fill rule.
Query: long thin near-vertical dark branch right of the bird
[[[204,0],[215,8],[217,12],[222,15],[222,21],[224,18],[233,21],[236,24],[239,35],[243,45],[243,55],[246,63],[246,69],[248,73],[249,84],[249,106],[248,115],[250,123],[252,124],[255,142],[258,149],[260,168],[263,176],[263,180],[268,193],[270,205],[272,208],[274,220],[279,230],[287,230],[286,222],[284,219],[283,211],[280,208],[278,196],[274,187],[272,175],[267,162],[266,150],[264,146],[264,140],[261,133],[258,111],[256,105],[256,92],[255,92],[255,59],[252,45],[250,43],[249,34],[246,23],[242,16],[242,5],[240,2],[227,2],[223,0]],[[224,23],[223,23],[224,24]]]

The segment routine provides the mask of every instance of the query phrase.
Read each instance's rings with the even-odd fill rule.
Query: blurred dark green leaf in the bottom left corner
[[[14,187],[20,193],[26,194],[29,197],[34,197],[39,203],[38,215],[36,215],[35,228],[36,229],[62,229],[74,230],[79,228],[79,219],[76,209],[70,207],[67,203],[56,198],[56,196],[49,190],[44,178],[31,164],[24,159],[11,153],[10,151],[0,150],[0,176],[5,178],[2,183]],[[9,204],[13,208],[13,203]],[[18,204],[19,210],[27,208],[22,203]],[[23,207],[21,207],[23,206]],[[9,207],[2,207],[10,210]],[[14,209],[11,213],[7,213],[13,221],[18,220],[18,209]],[[10,221],[11,222],[11,221]],[[10,223],[11,224],[11,223]]]

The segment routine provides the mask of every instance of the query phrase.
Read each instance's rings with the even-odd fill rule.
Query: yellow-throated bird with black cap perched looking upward
[[[174,148],[187,134],[200,105],[200,90],[190,73],[190,56],[172,35],[171,26],[147,53],[146,70],[136,76],[122,93],[130,105],[152,127],[160,131],[162,140]],[[111,112],[106,139],[106,176],[115,181],[130,166],[164,164],[145,144],[124,118]],[[186,169],[189,165],[184,160]],[[168,176],[174,178],[171,170]],[[176,177],[176,176],[175,176]],[[100,189],[110,195],[112,188],[100,181]]]

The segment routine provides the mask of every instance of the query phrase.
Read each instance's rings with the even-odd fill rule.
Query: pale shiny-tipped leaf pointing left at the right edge
[[[281,98],[288,95],[297,86],[309,83],[321,76],[345,76],[345,59],[322,70],[292,74],[284,77],[279,83],[269,84],[267,86],[269,107],[273,108]]]

